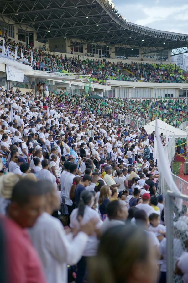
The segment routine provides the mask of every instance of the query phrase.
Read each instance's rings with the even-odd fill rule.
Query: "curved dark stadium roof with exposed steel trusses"
[[[188,51],[188,35],[127,22],[106,0],[2,0],[0,18],[0,28],[17,25],[22,30],[20,34],[27,34],[29,28],[29,33],[36,33],[38,40],[75,38],[81,43],[75,40],[72,45],[128,45],[141,47],[143,53],[161,47],[176,49],[176,53]]]

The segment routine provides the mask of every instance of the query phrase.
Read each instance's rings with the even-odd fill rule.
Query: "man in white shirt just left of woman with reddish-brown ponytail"
[[[68,207],[69,215],[71,214],[72,210],[75,208],[75,205],[73,205],[72,200],[70,199],[70,189],[72,186],[73,179],[77,172],[77,165],[71,164],[69,166],[70,174],[65,178],[64,182],[64,190],[65,190],[65,204]]]

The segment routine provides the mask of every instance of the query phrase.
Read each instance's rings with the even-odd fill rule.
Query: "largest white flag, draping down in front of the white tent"
[[[160,179],[165,180],[166,184],[168,185],[169,189],[177,194],[180,194],[180,191],[178,190],[178,187],[176,186],[173,177],[172,172],[170,169],[170,164],[168,160],[168,156],[166,151],[164,150],[164,147],[162,145],[159,129],[157,125],[157,119],[155,120],[155,132],[156,132],[156,140],[157,140],[157,167],[160,173]],[[165,188],[162,186],[163,193],[165,193]],[[175,199],[175,204],[179,211],[182,210],[182,203],[183,200],[180,198]]]

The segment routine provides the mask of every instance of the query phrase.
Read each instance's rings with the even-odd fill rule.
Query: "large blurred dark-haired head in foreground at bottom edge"
[[[121,225],[103,234],[88,275],[92,283],[154,283],[156,268],[146,231]]]

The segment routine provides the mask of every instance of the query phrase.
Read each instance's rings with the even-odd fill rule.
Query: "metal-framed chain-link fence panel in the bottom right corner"
[[[180,211],[175,199],[183,200]],[[167,283],[183,283],[183,274],[187,269],[185,257],[188,243],[188,196],[167,191],[165,194],[166,240],[162,256],[166,261]],[[160,243],[163,246],[164,243]],[[166,253],[166,254],[165,254]]]

